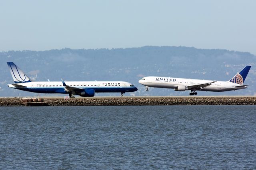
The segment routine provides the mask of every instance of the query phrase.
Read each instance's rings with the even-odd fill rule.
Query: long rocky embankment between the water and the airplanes
[[[29,106],[32,102],[1,98],[0,106]],[[32,103],[32,104],[31,104]],[[35,103],[40,105],[40,103]],[[140,106],[140,105],[256,105],[256,97],[91,97],[43,99],[44,106]]]

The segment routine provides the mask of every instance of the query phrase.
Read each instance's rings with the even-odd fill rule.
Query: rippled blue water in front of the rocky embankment
[[[0,107],[0,169],[255,169],[255,109]]]

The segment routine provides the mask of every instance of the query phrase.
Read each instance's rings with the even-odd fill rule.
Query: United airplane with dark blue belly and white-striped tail
[[[34,93],[61,93],[93,97],[95,93],[134,92],[138,89],[125,81],[31,81],[29,77],[13,62],[7,62],[14,84],[8,84],[13,89]]]

